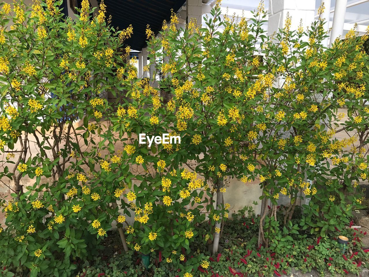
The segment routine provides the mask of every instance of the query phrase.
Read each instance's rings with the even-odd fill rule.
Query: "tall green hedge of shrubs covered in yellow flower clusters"
[[[91,18],[84,0],[76,21],[63,19],[60,3],[1,6],[1,178],[14,187],[4,201],[4,265],[69,276],[72,261],[93,254],[115,220],[124,250],[160,250],[160,260],[192,277],[182,249],[207,220],[204,238],[217,251],[230,178],[260,180],[258,244],[266,247],[301,198],[310,199],[301,227],[321,236],[361,208],[367,35],[350,31],[325,49],[321,18],[306,31],[290,30],[287,18],[268,38],[262,5],[248,24],[223,20],[217,4],[207,28],[193,19],[179,28],[175,14],[161,38],[148,26],[155,70],[141,78],[129,47],[121,48],[132,27],[115,32],[103,2]],[[350,137],[339,140],[338,132]],[[148,147],[139,133],[169,133],[181,143]],[[34,185],[24,188],[25,177]],[[279,195],[291,200],[277,223]]]

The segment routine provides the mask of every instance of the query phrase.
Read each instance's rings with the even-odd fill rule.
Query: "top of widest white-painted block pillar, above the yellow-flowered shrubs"
[[[306,28],[314,21],[315,0],[269,0],[268,35],[284,27],[287,13],[292,17],[291,31],[297,30],[301,19]]]

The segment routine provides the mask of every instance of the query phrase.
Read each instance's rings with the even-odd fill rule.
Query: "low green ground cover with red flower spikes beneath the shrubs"
[[[297,219],[295,219],[297,220]],[[183,270],[192,276],[356,276],[368,273],[369,250],[362,249],[364,231],[345,229],[332,232],[328,237],[314,237],[299,231],[296,235],[276,234],[269,249],[257,247],[257,218],[234,216],[225,222],[221,239],[223,251],[211,255],[206,237],[191,245],[190,251],[164,257],[160,251],[151,253],[151,264],[146,270],[141,254],[133,250],[121,252],[118,232],[109,233],[100,250],[100,257],[86,262],[79,276],[183,276]],[[349,237],[345,254],[335,239]],[[199,236],[200,237],[200,236]],[[185,256],[180,261],[180,255]],[[166,258],[172,259],[168,263]],[[177,263],[178,261],[178,263]],[[204,263],[205,261],[205,263]],[[192,271],[188,271],[192,268]],[[100,275],[99,275],[100,274]],[[105,274],[105,275],[104,275]],[[190,276],[190,275],[188,275]],[[365,276],[365,275],[362,275]]]

